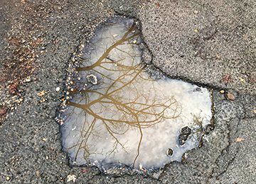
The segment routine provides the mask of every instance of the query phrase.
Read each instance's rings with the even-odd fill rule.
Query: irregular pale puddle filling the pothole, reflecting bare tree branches
[[[60,114],[71,163],[160,168],[198,146],[212,116],[210,92],[154,74],[142,45],[137,23],[123,17],[99,25],[85,44]]]

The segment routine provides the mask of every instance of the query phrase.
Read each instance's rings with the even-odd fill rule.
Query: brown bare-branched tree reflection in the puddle
[[[80,130],[78,144],[69,149],[78,148],[75,159],[81,150],[86,160],[92,154],[99,154],[100,150],[92,149],[93,146],[89,146],[88,141],[92,135],[100,136],[95,129],[97,122],[101,122],[114,139],[113,149],[107,155],[116,151],[118,146],[126,150],[118,137],[128,130],[137,129],[140,136],[134,166],[140,154],[143,129],[177,118],[181,109],[174,98],[165,96],[164,91],[157,91],[159,84],[146,73],[141,55],[138,54],[140,38],[136,24],[133,23],[119,39],[111,36],[111,45],[105,48],[95,62],[77,69],[81,75],[95,74],[99,78],[99,84],[70,91],[72,96],[79,95],[83,98],[79,101],[70,100],[68,105],[82,109],[86,118]]]

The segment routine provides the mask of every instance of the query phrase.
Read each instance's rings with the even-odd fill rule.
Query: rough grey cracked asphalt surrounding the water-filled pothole
[[[71,168],[61,151],[55,113],[66,69],[114,15],[140,22],[157,68],[213,90],[203,146],[151,176]],[[256,183],[255,20],[253,0],[0,1],[0,183]]]

